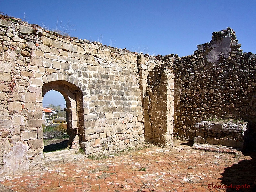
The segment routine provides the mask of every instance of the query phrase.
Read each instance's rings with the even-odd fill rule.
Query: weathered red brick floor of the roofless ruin
[[[199,151],[184,145],[185,141],[174,142],[173,148],[153,146],[114,158],[85,158],[12,176],[0,175],[0,182],[13,191],[33,192],[226,191],[212,187],[231,184],[252,187],[255,154],[236,159],[234,154]],[[142,167],[146,171],[139,171]]]

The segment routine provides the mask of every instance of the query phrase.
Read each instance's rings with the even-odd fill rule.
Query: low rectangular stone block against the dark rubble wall
[[[243,148],[247,132],[246,122],[202,121],[196,123],[195,143]]]

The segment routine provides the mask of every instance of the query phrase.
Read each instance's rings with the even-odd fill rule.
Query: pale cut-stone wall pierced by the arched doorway
[[[16,171],[43,158],[42,99],[66,100],[73,148],[110,153],[144,141],[137,53],[0,19],[0,164]]]

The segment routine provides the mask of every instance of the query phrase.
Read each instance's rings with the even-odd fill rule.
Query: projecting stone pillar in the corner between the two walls
[[[172,58],[139,55],[138,68],[143,91],[144,137],[156,145],[172,145],[174,74]]]

